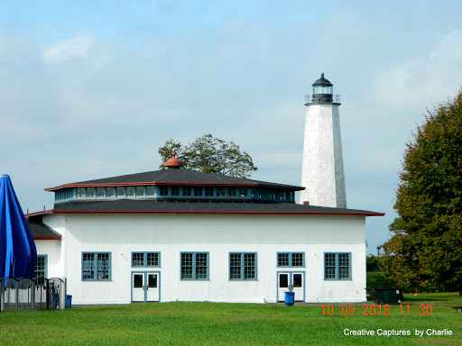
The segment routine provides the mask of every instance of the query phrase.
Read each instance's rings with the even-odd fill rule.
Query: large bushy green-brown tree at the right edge
[[[402,287],[462,296],[462,90],[406,143],[382,268]]]

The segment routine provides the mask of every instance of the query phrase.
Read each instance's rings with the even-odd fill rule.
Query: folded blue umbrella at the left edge
[[[0,278],[33,278],[37,250],[11,179],[0,178]]]

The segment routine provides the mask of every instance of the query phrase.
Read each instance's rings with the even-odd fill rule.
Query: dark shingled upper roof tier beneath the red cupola
[[[237,186],[258,186],[258,187],[276,187],[285,188],[295,191],[303,190],[304,187],[270,183],[266,181],[234,178],[220,176],[217,174],[202,173],[188,169],[162,169],[152,172],[128,174],[112,178],[102,178],[94,180],[79,181],[77,183],[64,184],[59,187],[46,188],[46,191],[54,191],[63,187],[75,186],[97,186],[97,185],[124,185],[124,184],[193,184],[193,185],[237,185]]]

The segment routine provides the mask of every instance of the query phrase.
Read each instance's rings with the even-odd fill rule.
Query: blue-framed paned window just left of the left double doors
[[[82,280],[110,280],[110,252],[82,252]]]

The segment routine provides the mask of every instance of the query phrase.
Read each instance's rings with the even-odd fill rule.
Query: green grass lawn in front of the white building
[[[149,303],[73,306],[60,311],[0,313],[1,345],[461,345],[462,306],[455,293],[405,296],[390,314],[344,314],[333,305],[257,305],[217,303]],[[419,305],[431,305],[422,314]],[[414,307],[416,306],[416,307]],[[429,313],[430,307],[427,310]],[[329,313],[332,313],[329,307]],[[351,312],[350,312],[351,313]],[[388,312],[387,312],[388,313]],[[346,336],[344,330],[374,331],[374,336]],[[427,329],[452,331],[451,336],[415,336]],[[410,336],[377,335],[410,331]]]

